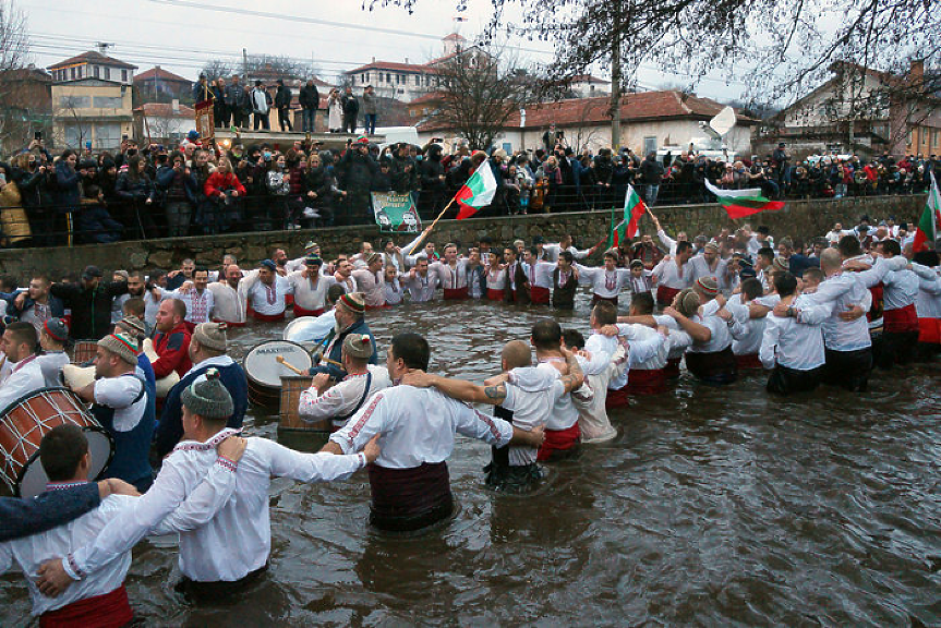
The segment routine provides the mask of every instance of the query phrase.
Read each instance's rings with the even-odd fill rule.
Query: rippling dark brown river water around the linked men
[[[583,299],[583,298],[582,298]],[[563,326],[587,334],[579,301]],[[432,345],[432,371],[478,382],[503,342],[548,309],[437,303],[377,314]],[[283,324],[232,334],[241,357]],[[384,353],[383,353],[384,357]],[[272,567],[243,596],[190,606],[176,550],[134,551],[131,603],[146,625],[941,624],[939,371],[879,375],[861,397],[771,398],[764,378],[667,395],[612,415],[618,437],[553,466],[535,495],[483,487],[490,448],[449,460],[460,511],[419,538],[367,529],[369,485],[272,488]],[[250,409],[250,412],[253,410]],[[252,435],[277,438],[254,411]],[[0,579],[0,624],[28,621],[22,576]]]

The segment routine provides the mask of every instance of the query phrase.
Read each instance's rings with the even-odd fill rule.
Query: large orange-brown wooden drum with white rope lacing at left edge
[[[79,397],[64,388],[41,388],[11,403],[0,414],[0,479],[20,497],[33,497],[46,490],[48,479],[39,462],[43,436],[59,425],[77,425],[85,431],[96,480],[114,454],[114,443]]]

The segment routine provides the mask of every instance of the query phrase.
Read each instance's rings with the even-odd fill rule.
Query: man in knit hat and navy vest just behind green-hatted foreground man
[[[164,400],[160,422],[154,432],[155,454],[162,458],[173,450],[183,436],[183,408],[181,396],[193,382],[205,376],[206,371],[215,369],[219,381],[232,399],[232,412],[228,427],[239,428],[249,407],[249,390],[245,372],[238,362],[226,354],[228,349],[227,326],[225,323],[202,323],[196,325],[190,339],[190,360],[193,367],[170,389]]]

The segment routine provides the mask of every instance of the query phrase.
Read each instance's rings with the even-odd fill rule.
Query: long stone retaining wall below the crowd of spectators
[[[752,216],[751,220],[733,221],[719,205],[680,205],[656,207],[655,213],[667,231],[712,233],[721,227],[737,227],[749,221],[752,227],[768,225],[771,232],[781,238],[822,235],[834,222],[844,226],[857,224],[864,214],[872,220],[894,216],[896,221],[915,221],[925,207],[926,197],[920,196],[872,196],[846,200],[791,201],[781,212],[769,212]],[[517,238],[531,242],[534,235],[544,235],[554,241],[562,233],[571,233],[581,247],[588,247],[607,237],[610,214],[571,213],[535,214],[500,218],[471,218],[468,220],[442,220],[435,227],[433,241],[438,247],[446,242],[468,245],[481,235],[490,235],[499,245]],[[651,232],[649,218],[641,224],[641,232]],[[359,243],[370,240],[378,247],[385,235],[373,226],[340,227],[331,229],[303,229],[297,231],[265,231],[233,235],[202,238],[169,238],[94,244],[74,247],[19,249],[0,251],[0,273],[27,279],[29,273],[48,273],[57,279],[68,273],[77,273],[88,264],[106,270],[116,268],[150,269],[178,268],[180,262],[193,257],[200,265],[217,266],[226,253],[231,253],[244,267],[252,267],[264,259],[275,247],[282,247],[289,256],[298,256],[307,240],[315,240],[323,247],[325,257],[358,250]],[[405,244],[411,237],[396,238]]]

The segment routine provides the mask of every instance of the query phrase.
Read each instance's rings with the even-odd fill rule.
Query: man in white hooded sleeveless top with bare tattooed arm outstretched
[[[485,381],[483,386],[419,371],[407,373],[402,383],[422,388],[434,386],[448,397],[468,403],[488,403],[495,407],[494,416],[512,423],[515,428],[531,432],[545,426],[558,397],[582,384],[574,355],[567,351],[564,355],[572,366],[568,375],[560,375],[555,369],[532,366],[529,346],[521,340],[511,340],[500,354],[503,372]],[[521,492],[542,480],[543,472],[536,464],[539,448],[511,445],[491,449],[492,462],[484,468],[487,486]]]

